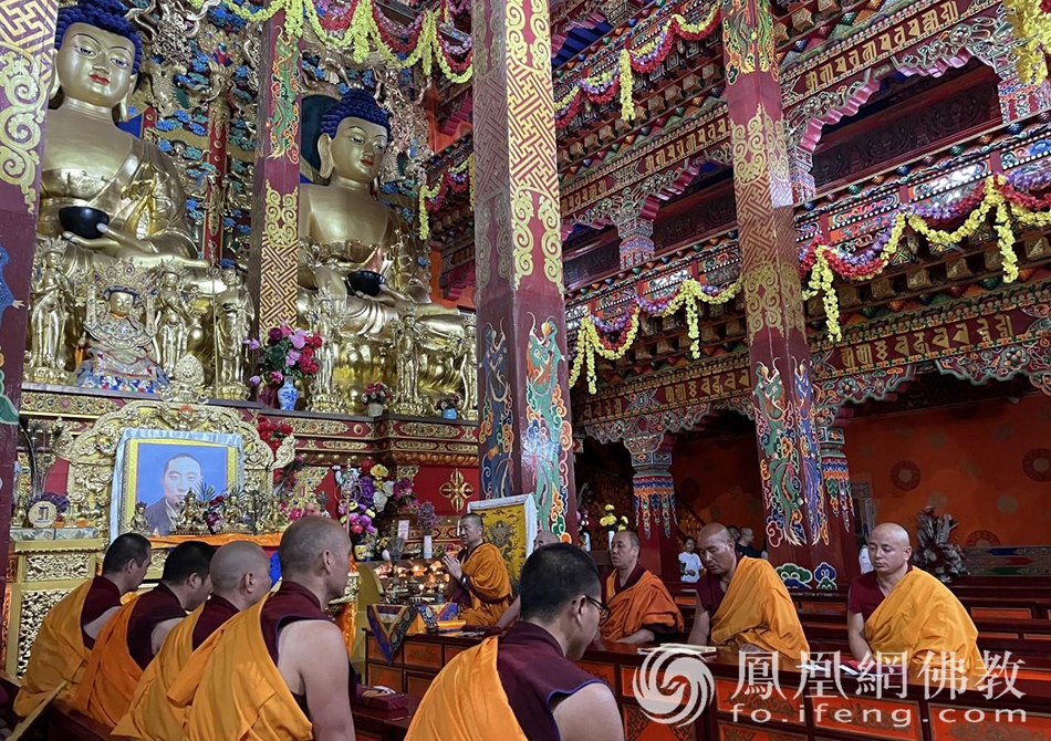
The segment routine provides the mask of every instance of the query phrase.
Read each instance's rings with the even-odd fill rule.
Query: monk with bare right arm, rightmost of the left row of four
[[[355,738],[346,644],[324,612],[346,587],[351,539],[332,520],[302,518],[278,557],[281,588],[201,646],[168,692],[189,706],[189,741]]]

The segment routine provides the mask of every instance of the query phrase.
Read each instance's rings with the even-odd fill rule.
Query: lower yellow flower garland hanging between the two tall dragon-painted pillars
[[[704,285],[704,283],[688,278],[683,281],[678,292],[668,301],[667,305],[659,311],[647,311],[652,316],[664,317],[670,316],[684,306],[686,307],[686,330],[690,338],[689,354],[695,359],[700,357],[700,322],[697,304],[725,304],[732,301],[741,290],[740,279],[715,295],[705,292]],[[595,374],[595,356],[604,357],[607,361],[618,361],[624,357],[632,345],[635,344],[643,311],[643,307],[636,301],[629,310],[627,323],[622,331],[624,332],[623,338],[615,347],[603,342],[595,320],[591,314],[581,320],[580,328],[576,331],[576,355],[573,357],[573,365],[570,367],[570,386],[576,384],[581,375],[586,373],[587,390],[591,394],[595,393],[599,384]]]

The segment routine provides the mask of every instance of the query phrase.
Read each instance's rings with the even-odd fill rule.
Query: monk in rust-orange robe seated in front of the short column
[[[602,639],[620,644],[648,644],[683,629],[683,614],[668,588],[638,562],[638,535],[623,530],[613,536],[610,561],[614,571],[602,585],[610,618]]]

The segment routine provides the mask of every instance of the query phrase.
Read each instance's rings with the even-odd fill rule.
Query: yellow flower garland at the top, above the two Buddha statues
[[[190,1],[198,10],[205,3],[205,0]],[[435,10],[424,11],[425,14],[416,45],[402,59],[384,41],[376,23],[375,8],[372,0],[357,0],[354,14],[351,17],[351,24],[342,33],[332,33],[321,24],[321,17],[313,0],[271,0],[268,6],[254,10],[249,8],[247,3],[241,6],[232,2],[232,0],[227,0],[225,7],[249,23],[266,23],[283,10],[284,23],[282,28],[293,39],[302,38],[303,31],[309,24],[311,31],[325,46],[330,49],[352,49],[353,60],[357,64],[363,63],[368,58],[370,51],[375,49],[388,64],[398,70],[407,70],[416,64],[422,64],[424,74],[430,75],[437,62],[441,73],[455,83],[467,82],[471,79],[474,71],[472,64],[468,64],[462,72],[456,72],[449,64],[438,36],[439,15],[438,11]]]

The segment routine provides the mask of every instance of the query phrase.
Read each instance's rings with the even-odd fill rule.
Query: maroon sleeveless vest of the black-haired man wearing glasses
[[[602,681],[565,658],[554,637],[519,620],[500,639],[497,672],[529,741],[559,741],[551,705]]]

